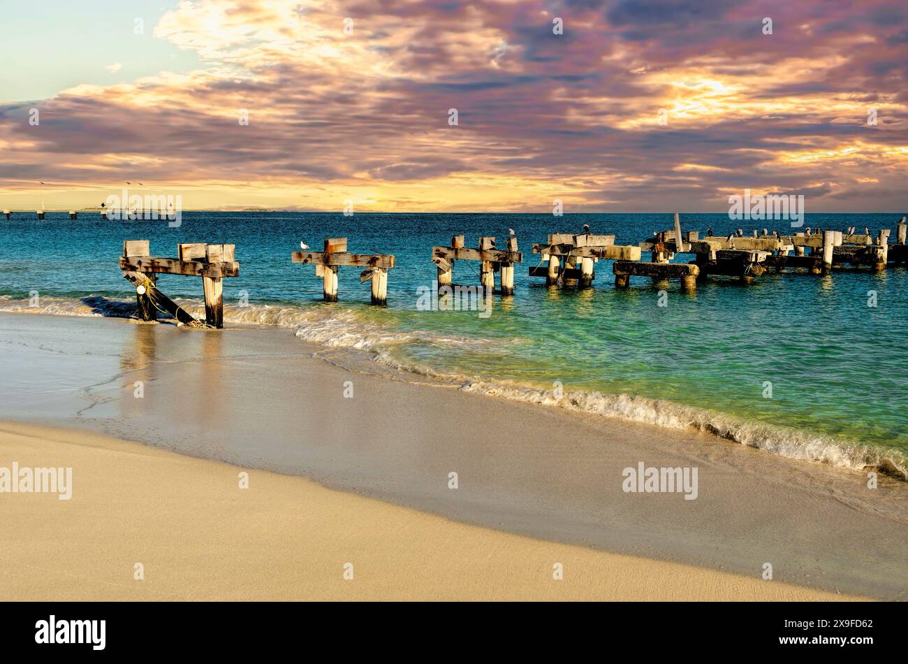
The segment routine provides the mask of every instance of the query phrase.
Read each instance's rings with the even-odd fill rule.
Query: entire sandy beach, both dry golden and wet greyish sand
[[[0,466],[74,469],[71,500],[0,500],[5,599],[899,600],[908,586],[900,481],[868,490],[861,473],[702,433],[354,372],[287,330],[27,314],[0,328]],[[696,467],[696,500],[622,491],[639,462]]]

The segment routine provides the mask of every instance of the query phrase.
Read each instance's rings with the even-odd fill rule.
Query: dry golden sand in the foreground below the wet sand
[[[83,431],[2,423],[0,465],[11,461],[71,466],[73,496],[0,494],[0,600],[855,599],[469,526],[267,471],[248,470],[240,489],[236,466]]]

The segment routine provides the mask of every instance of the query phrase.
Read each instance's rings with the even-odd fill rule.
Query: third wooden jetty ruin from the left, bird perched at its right
[[[464,246],[463,235],[451,235],[448,247],[432,247],[432,263],[438,268],[439,289],[451,285],[455,261],[480,261],[479,283],[487,293],[495,292],[495,273],[500,273],[499,291],[502,295],[514,294],[514,263],[523,262],[523,253],[517,248],[517,238],[508,236],[506,249],[495,248],[495,238],[479,237],[479,246]]]

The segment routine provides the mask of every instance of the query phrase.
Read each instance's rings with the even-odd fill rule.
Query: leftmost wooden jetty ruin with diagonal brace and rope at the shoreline
[[[177,321],[197,322],[192,315],[157,288],[159,274],[183,274],[202,277],[205,298],[205,322],[223,327],[223,282],[225,277],[240,275],[240,263],[234,260],[233,244],[180,243],[177,258],[152,256],[148,240],[123,242],[120,269],[123,277],[135,284],[138,315],[153,321],[155,310],[172,314]]]

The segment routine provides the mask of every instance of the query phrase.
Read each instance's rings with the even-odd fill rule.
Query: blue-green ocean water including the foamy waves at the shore
[[[894,228],[897,220],[895,214],[808,214],[806,225],[875,231]],[[724,214],[683,214],[681,221],[701,233],[712,227],[725,234],[740,225]],[[585,223],[592,233],[636,244],[669,228],[672,217],[189,212],[172,228],[88,214],[70,221],[48,213],[44,222],[19,214],[0,220],[0,311],[128,316],[134,291],[119,270],[123,240],[150,240],[158,256],[175,256],[177,243],[234,243],[241,276],[224,280],[228,327],[279,325],[333,352],[368,353],[384,371],[464,390],[712,431],[854,470],[908,468],[903,267],[879,274],[766,273],[746,287],[711,278],[691,294],[670,282],[666,306],[658,306],[659,292],[648,279],[632,279],[631,288],[617,291],[608,261],[597,263],[588,290],[528,279],[528,266],[539,264],[532,243],[552,232],[578,233]],[[782,224],[776,223],[780,231]],[[432,245],[463,233],[468,246],[480,234],[496,236],[501,246],[508,228],[524,253],[514,297],[496,296],[485,311],[420,311],[436,276]],[[360,270],[352,267],[341,268],[341,302],[321,302],[321,279],[311,265],[291,263],[290,253],[301,241],[321,249],[329,236],[349,237],[351,252],[395,254],[387,308],[369,305],[369,283],[360,284]],[[693,256],[676,257],[687,260]],[[456,263],[454,282],[478,284],[479,263]],[[200,279],[163,275],[158,285],[201,314]],[[871,292],[875,307],[868,306]]]

